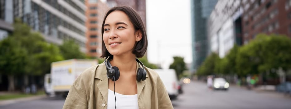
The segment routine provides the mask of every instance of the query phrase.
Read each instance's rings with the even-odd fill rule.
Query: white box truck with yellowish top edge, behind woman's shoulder
[[[46,94],[66,97],[75,79],[85,69],[97,64],[97,59],[69,59],[51,63],[51,73],[44,78]]]

